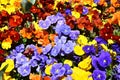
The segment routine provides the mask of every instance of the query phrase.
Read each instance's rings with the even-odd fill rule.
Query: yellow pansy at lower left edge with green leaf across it
[[[0,71],[7,66],[5,72],[10,72],[13,70],[14,68],[14,61],[12,59],[6,59],[6,61],[4,63],[2,63],[1,67],[0,67]]]

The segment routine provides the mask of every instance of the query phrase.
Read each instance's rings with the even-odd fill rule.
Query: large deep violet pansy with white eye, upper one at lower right
[[[110,53],[104,50],[102,50],[100,53],[101,54],[98,58],[99,65],[103,68],[108,67],[110,63],[112,62]]]

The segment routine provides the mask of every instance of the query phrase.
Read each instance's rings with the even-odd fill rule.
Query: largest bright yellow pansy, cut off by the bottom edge
[[[89,71],[82,70],[78,67],[72,68],[73,73],[71,74],[73,80],[93,80],[92,73]]]

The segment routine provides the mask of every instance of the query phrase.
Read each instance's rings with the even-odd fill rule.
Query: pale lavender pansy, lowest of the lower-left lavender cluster
[[[26,64],[18,67],[18,68],[17,68],[17,71],[18,71],[18,73],[20,73],[20,75],[22,75],[23,77],[24,77],[24,76],[28,76],[28,75],[30,74],[30,72],[31,72],[31,66],[30,66],[28,63],[26,63]]]

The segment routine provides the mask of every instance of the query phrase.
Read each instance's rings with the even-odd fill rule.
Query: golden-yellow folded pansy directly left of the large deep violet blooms
[[[91,57],[88,56],[87,58],[85,58],[83,61],[80,61],[78,66],[81,68],[81,69],[84,69],[84,70],[90,70],[91,69]]]

